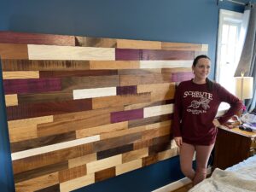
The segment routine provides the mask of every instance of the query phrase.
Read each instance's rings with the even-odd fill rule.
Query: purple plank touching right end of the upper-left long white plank
[[[139,61],[141,55],[141,49],[115,49],[116,61]]]

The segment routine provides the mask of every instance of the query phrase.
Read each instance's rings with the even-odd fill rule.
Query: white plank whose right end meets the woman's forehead
[[[191,67],[193,61],[140,61],[140,68],[176,68]]]

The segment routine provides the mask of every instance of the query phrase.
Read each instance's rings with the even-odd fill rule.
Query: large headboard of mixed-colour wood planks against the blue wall
[[[177,155],[176,84],[207,49],[0,32],[16,191],[71,191]]]

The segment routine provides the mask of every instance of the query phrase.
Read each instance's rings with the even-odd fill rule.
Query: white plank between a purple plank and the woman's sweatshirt
[[[173,104],[144,108],[144,118],[173,113]]]

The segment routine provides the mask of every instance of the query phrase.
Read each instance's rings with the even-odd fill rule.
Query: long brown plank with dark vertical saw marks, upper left
[[[90,68],[89,61],[3,59],[3,71],[73,71]]]

